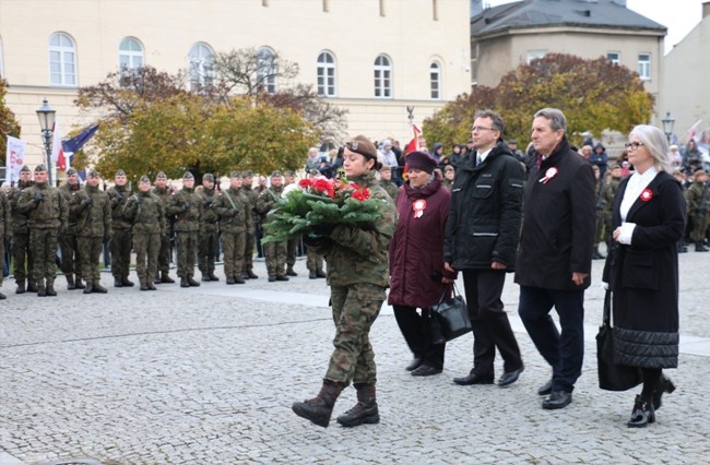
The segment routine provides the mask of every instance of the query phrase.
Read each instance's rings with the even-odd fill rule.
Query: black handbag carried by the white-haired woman
[[[614,329],[611,324],[612,291],[604,296],[604,317],[596,334],[599,386],[605,391],[628,391],[642,382],[641,369],[614,362]]]

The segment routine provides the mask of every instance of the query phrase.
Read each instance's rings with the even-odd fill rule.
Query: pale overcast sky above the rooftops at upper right
[[[483,0],[496,7],[513,0]],[[707,0],[626,0],[626,8],[668,28],[665,52],[671,51],[702,19],[702,2]]]

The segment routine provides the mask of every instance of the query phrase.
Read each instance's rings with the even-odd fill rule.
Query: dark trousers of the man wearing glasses
[[[463,287],[473,327],[473,371],[482,377],[494,375],[496,347],[504,360],[504,371],[522,368],[518,341],[504,310],[500,294],[506,272],[498,270],[464,270]]]

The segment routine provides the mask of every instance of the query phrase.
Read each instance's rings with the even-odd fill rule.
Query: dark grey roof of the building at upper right
[[[649,29],[667,28],[613,0],[522,0],[485,9],[471,17],[471,35],[529,27],[573,26]]]

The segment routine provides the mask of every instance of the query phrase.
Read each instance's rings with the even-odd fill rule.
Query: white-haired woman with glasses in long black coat
[[[619,183],[614,198],[614,246],[604,282],[613,293],[614,359],[643,373],[628,426],[646,427],[655,421],[663,392],[675,389],[662,369],[678,365],[677,245],[686,206],[670,174],[665,134],[637,126],[626,146],[635,174]]]

